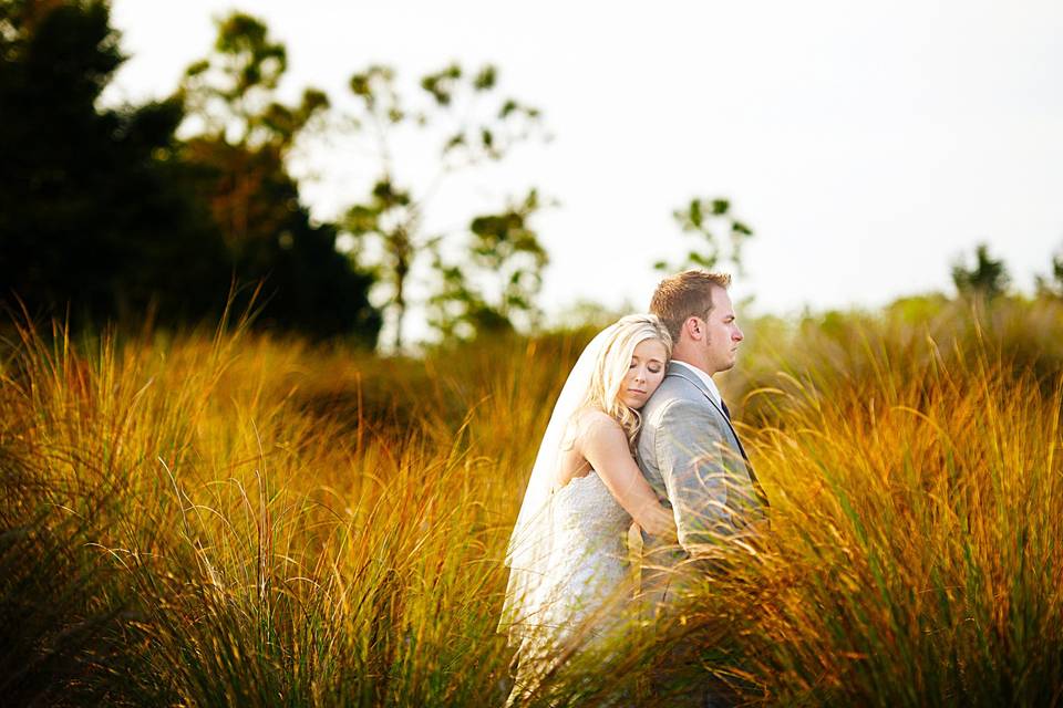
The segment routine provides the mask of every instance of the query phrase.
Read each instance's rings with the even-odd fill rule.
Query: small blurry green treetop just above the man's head
[[[685,208],[673,211],[672,216],[682,232],[692,236],[696,243],[680,261],[657,261],[653,263],[656,270],[715,270],[723,263],[731,263],[739,273],[742,272],[742,247],[753,236],[753,230],[731,214],[729,199],[694,198]]]

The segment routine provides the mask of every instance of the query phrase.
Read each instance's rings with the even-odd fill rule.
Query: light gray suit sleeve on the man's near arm
[[[692,556],[705,555],[713,538],[734,530],[727,508],[730,450],[718,416],[690,400],[669,403],[661,412],[656,455],[679,543]]]

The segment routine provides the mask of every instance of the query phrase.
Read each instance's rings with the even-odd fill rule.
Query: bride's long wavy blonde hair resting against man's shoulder
[[[668,327],[654,314],[629,314],[611,324],[606,341],[595,362],[595,373],[580,408],[596,408],[620,424],[628,436],[629,447],[642,426],[638,410],[632,410],[620,400],[620,386],[631,365],[634,347],[647,340],[658,340],[664,345],[665,358],[672,356],[672,337]]]

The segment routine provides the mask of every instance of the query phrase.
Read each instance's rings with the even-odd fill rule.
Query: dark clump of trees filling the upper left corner
[[[371,275],[310,221],[285,167],[328,100],[272,100],[285,52],[265,25],[230,15],[174,97],[136,107],[96,108],[123,61],[106,2],[0,0],[0,54],[9,305],[70,309],[75,325],[214,319],[235,272],[267,280],[259,324],[375,344]]]

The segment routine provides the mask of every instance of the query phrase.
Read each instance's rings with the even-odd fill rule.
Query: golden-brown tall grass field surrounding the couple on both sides
[[[1063,705],[1063,304],[910,301],[750,334],[720,382],[770,535],[555,696],[639,700],[638,669],[681,642],[751,705]],[[404,360],[239,325],[20,327],[0,696],[499,705],[505,543],[589,335]]]

